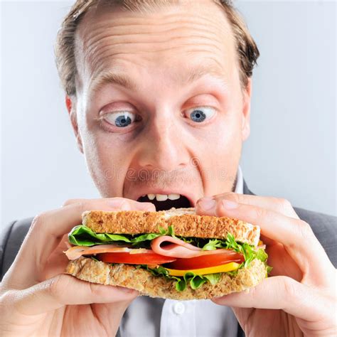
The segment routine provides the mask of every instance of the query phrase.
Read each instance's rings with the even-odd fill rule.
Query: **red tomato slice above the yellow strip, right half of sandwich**
[[[245,259],[242,254],[235,252],[223,252],[220,254],[208,254],[198,257],[189,257],[188,259],[177,259],[174,262],[166,264],[164,267],[170,269],[200,269],[207,267],[215,267],[220,264],[227,264],[230,262],[242,263]]]

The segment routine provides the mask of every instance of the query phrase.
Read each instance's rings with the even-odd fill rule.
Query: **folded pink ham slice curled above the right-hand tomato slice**
[[[165,245],[163,245],[164,242]],[[167,245],[167,243],[169,244]],[[178,259],[188,259],[190,257],[198,257],[202,255],[221,254],[224,252],[233,255],[236,254],[232,250],[225,249],[201,250],[199,247],[193,246],[190,243],[168,235],[156,237],[156,239],[152,240],[151,248],[156,254],[176,257]]]

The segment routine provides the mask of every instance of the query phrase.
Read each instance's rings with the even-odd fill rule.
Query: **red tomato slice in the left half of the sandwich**
[[[137,254],[129,252],[112,252],[97,254],[97,259],[107,263],[127,263],[127,264],[164,264],[176,261],[176,257],[169,257],[156,254],[152,250],[144,250]]]

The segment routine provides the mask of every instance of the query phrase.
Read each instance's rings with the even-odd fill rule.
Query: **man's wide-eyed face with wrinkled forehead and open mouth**
[[[218,6],[191,1],[153,14],[101,7],[80,23],[75,52],[73,126],[102,197],[188,198],[159,196],[164,209],[232,191],[250,130],[250,86],[240,86]]]

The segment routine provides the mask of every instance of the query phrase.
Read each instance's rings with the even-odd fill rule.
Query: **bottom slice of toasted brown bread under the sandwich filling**
[[[138,290],[141,295],[178,300],[211,299],[243,291],[255,287],[267,277],[264,263],[257,259],[249,267],[239,269],[237,276],[223,273],[215,285],[206,282],[199,289],[188,286],[184,291],[176,291],[176,281],[154,276],[145,269],[128,264],[108,264],[87,257],[69,262],[66,272],[84,281],[127,287]]]

